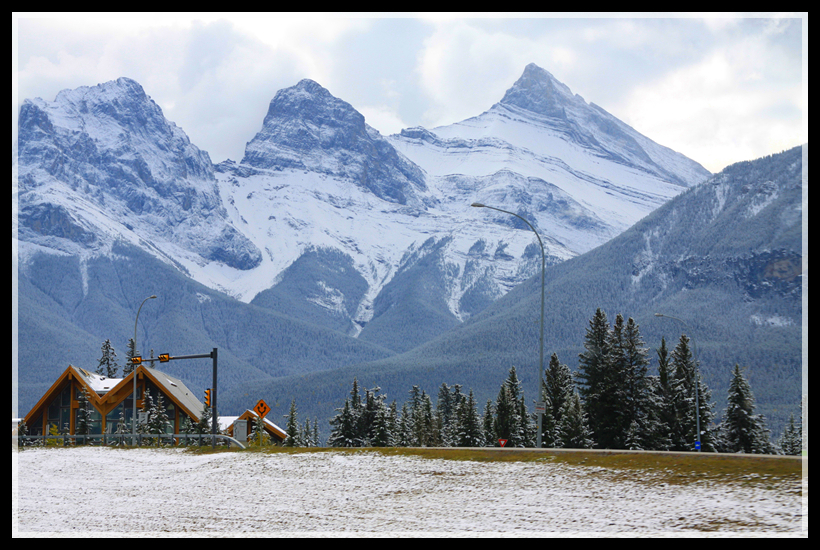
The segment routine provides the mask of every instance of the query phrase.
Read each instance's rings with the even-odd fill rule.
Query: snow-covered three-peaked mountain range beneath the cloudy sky
[[[395,350],[457,325],[548,264],[706,176],[529,65],[498,104],[383,137],[303,80],[241,162],[214,166],[136,82],[21,110],[21,256],[127,242],[197,282]],[[25,264],[25,261],[23,262]]]

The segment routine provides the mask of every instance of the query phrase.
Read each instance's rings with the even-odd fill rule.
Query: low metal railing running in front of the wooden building
[[[13,443],[20,447],[73,447],[77,445],[103,445],[133,447],[188,447],[204,445],[236,445],[244,449],[238,440],[223,434],[88,434],[88,435],[12,435]],[[15,441],[16,440],[16,441]]]

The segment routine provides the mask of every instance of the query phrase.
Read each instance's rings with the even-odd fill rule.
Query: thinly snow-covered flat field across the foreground
[[[544,462],[376,453],[12,451],[18,536],[785,536],[794,486],[667,485]],[[714,530],[717,529],[717,530]]]

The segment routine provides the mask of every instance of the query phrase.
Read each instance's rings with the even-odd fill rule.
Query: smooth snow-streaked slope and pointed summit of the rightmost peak
[[[511,171],[530,180],[517,193],[485,189],[481,202],[527,210],[547,234],[562,234],[576,254],[602,244],[709,172],[659,146],[583,98],[547,71],[528,65],[500,103],[465,121],[427,131],[404,130],[390,142],[431,176],[428,185],[453,193],[452,175],[480,186]],[[468,185],[460,182],[459,188]],[[448,189],[449,187],[449,189]],[[501,186],[503,187],[503,186]],[[580,231],[542,219],[559,190],[579,215]],[[529,206],[529,208],[527,208]],[[568,231],[569,230],[569,231]]]

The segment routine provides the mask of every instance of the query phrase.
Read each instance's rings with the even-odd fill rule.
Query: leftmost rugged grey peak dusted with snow
[[[208,154],[133,80],[26,100],[16,148],[25,243],[88,255],[124,240],[167,262],[197,258],[240,271],[260,262],[227,218]]]

